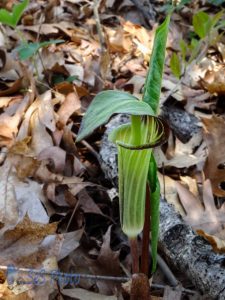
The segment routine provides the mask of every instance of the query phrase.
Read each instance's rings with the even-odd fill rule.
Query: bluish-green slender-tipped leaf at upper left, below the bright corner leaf
[[[22,43],[22,45],[17,47],[16,50],[18,51],[19,59],[22,61],[34,56],[40,48],[63,42],[64,40],[50,40],[41,43]]]

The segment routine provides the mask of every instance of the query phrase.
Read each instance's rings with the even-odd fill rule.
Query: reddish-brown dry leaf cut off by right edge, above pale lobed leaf
[[[205,142],[208,146],[208,158],[204,167],[206,178],[212,182],[213,193],[225,196],[225,121],[213,116],[202,119],[205,126]]]

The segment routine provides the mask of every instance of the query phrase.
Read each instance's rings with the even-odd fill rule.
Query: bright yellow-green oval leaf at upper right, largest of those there
[[[210,16],[203,11],[200,11],[193,16],[192,23],[195,33],[201,39],[203,39],[207,36],[207,34],[209,34],[212,27],[212,20]]]

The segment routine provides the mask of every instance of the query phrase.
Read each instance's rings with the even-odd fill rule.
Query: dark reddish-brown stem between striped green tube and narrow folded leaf
[[[149,271],[149,239],[151,227],[151,205],[150,205],[150,187],[146,184],[146,198],[145,198],[145,223],[142,237],[142,255],[141,255],[141,272],[148,276]]]

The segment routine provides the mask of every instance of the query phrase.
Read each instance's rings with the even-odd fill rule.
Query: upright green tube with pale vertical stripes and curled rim
[[[137,131],[141,135],[137,136],[132,124],[125,124],[114,129],[109,136],[118,146],[120,220],[123,232],[130,238],[137,236],[144,226],[146,182],[152,154],[150,147],[163,141],[161,120],[155,117],[135,118],[135,125],[138,119],[140,121]],[[155,174],[154,161],[152,164]]]

